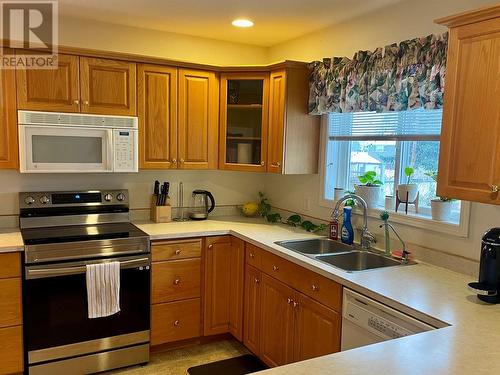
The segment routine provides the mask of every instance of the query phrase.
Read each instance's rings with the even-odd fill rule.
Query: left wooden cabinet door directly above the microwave
[[[80,112],[78,59],[58,55],[57,69],[17,69],[18,108]]]

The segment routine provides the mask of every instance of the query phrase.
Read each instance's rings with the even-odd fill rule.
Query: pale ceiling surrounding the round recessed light
[[[60,16],[272,46],[403,0],[59,0]],[[255,26],[239,29],[235,18]]]

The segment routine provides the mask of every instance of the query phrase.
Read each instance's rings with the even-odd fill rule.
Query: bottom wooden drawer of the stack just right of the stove
[[[151,345],[201,336],[199,298],[151,306]]]

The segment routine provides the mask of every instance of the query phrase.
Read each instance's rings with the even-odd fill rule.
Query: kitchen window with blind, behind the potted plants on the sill
[[[437,171],[442,110],[411,110],[400,112],[331,113],[323,118],[323,205],[331,207],[335,187],[348,191],[358,184],[358,176],[375,171],[383,182],[384,195],[396,195],[398,184],[406,183],[404,170],[412,167],[412,183],[418,185],[419,212],[404,204],[398,216],[420,220],[431,219],[430,201],[435,198],[436,183],[427,175]],[[384,202],[377,207],[383,210]],[[449,223],[460,226],[464,204],[453,203]],[[468,206],[466,207],[468,215]],[[392,210],[394,211],[394,208]],[[399,215],[399,214],[402,215]],[[372,212],[376,215],[376,212]],[[394,216],[394,215],[393,215]],[[391,216],[392,217],[392,216]]]

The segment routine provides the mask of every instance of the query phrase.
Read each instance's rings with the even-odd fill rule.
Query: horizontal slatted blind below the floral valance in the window
[[[330,113],[330,140],[439,140],[441,109],[401,112]]]

